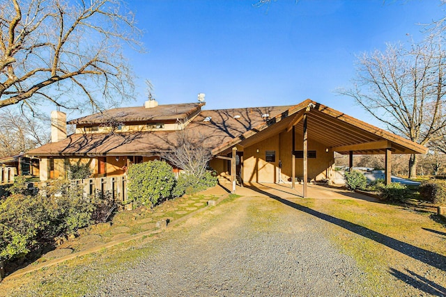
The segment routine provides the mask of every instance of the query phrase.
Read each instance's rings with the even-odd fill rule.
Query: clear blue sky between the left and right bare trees
[[[144,80],[160,104],[196,102],[206,109],[298,104],[310,98],[380,126],[350,97],[355,55],[385,42],[420,39],[445,15],[438,0],[418,1],[130,1],[144,29],[145,54],[126,51],[146,100]]]

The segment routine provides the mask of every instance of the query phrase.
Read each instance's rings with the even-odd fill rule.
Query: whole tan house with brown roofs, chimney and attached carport
[[[203,139],[210,166],[241,182],[330,182],[334,152],[384,154],[390,182],[392,154],[422,154],[426,147],[310,99],[293,106],[202,110],[203,102],[110,109],[77,120],[66,135],[66,115],[52,112],[52,143],[27,152],[40,158],[40,179],[66,177],[69,163],[88,163],[95,177],[123,175],[130,163],[160,159],[178,131]]]

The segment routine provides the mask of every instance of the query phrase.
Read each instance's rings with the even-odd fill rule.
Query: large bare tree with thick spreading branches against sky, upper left
[[[0,108],[100,107],[132,96],[127,43],[140,48],[120,0],[1,0]],[[70,96],[63,96],[70,94]]]

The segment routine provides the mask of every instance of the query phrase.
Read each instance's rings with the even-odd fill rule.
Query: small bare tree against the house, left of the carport
[[[212,154],[210,148],[206,147],[204,136],[181,129],[176,133],[174,150],[162,154],[162,158],[167,159],[177,168],[183,169],[186,174],[194,175],[199,181],[208,168]]]

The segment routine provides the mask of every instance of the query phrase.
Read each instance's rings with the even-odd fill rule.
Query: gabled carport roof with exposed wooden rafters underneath
[[[241,147],[253,145],[282,131],[289,131],[293,126],[297,131],[303,131],[304,113],[307,113],[308,137],[322,143],[333,152],[383,154],[387,149],[395,154],[425,154],[427,152],[427,148],[423,145],[307,99],[231,141],[215,147],[212,151],[213,155],[227,154],[235,145]]]

